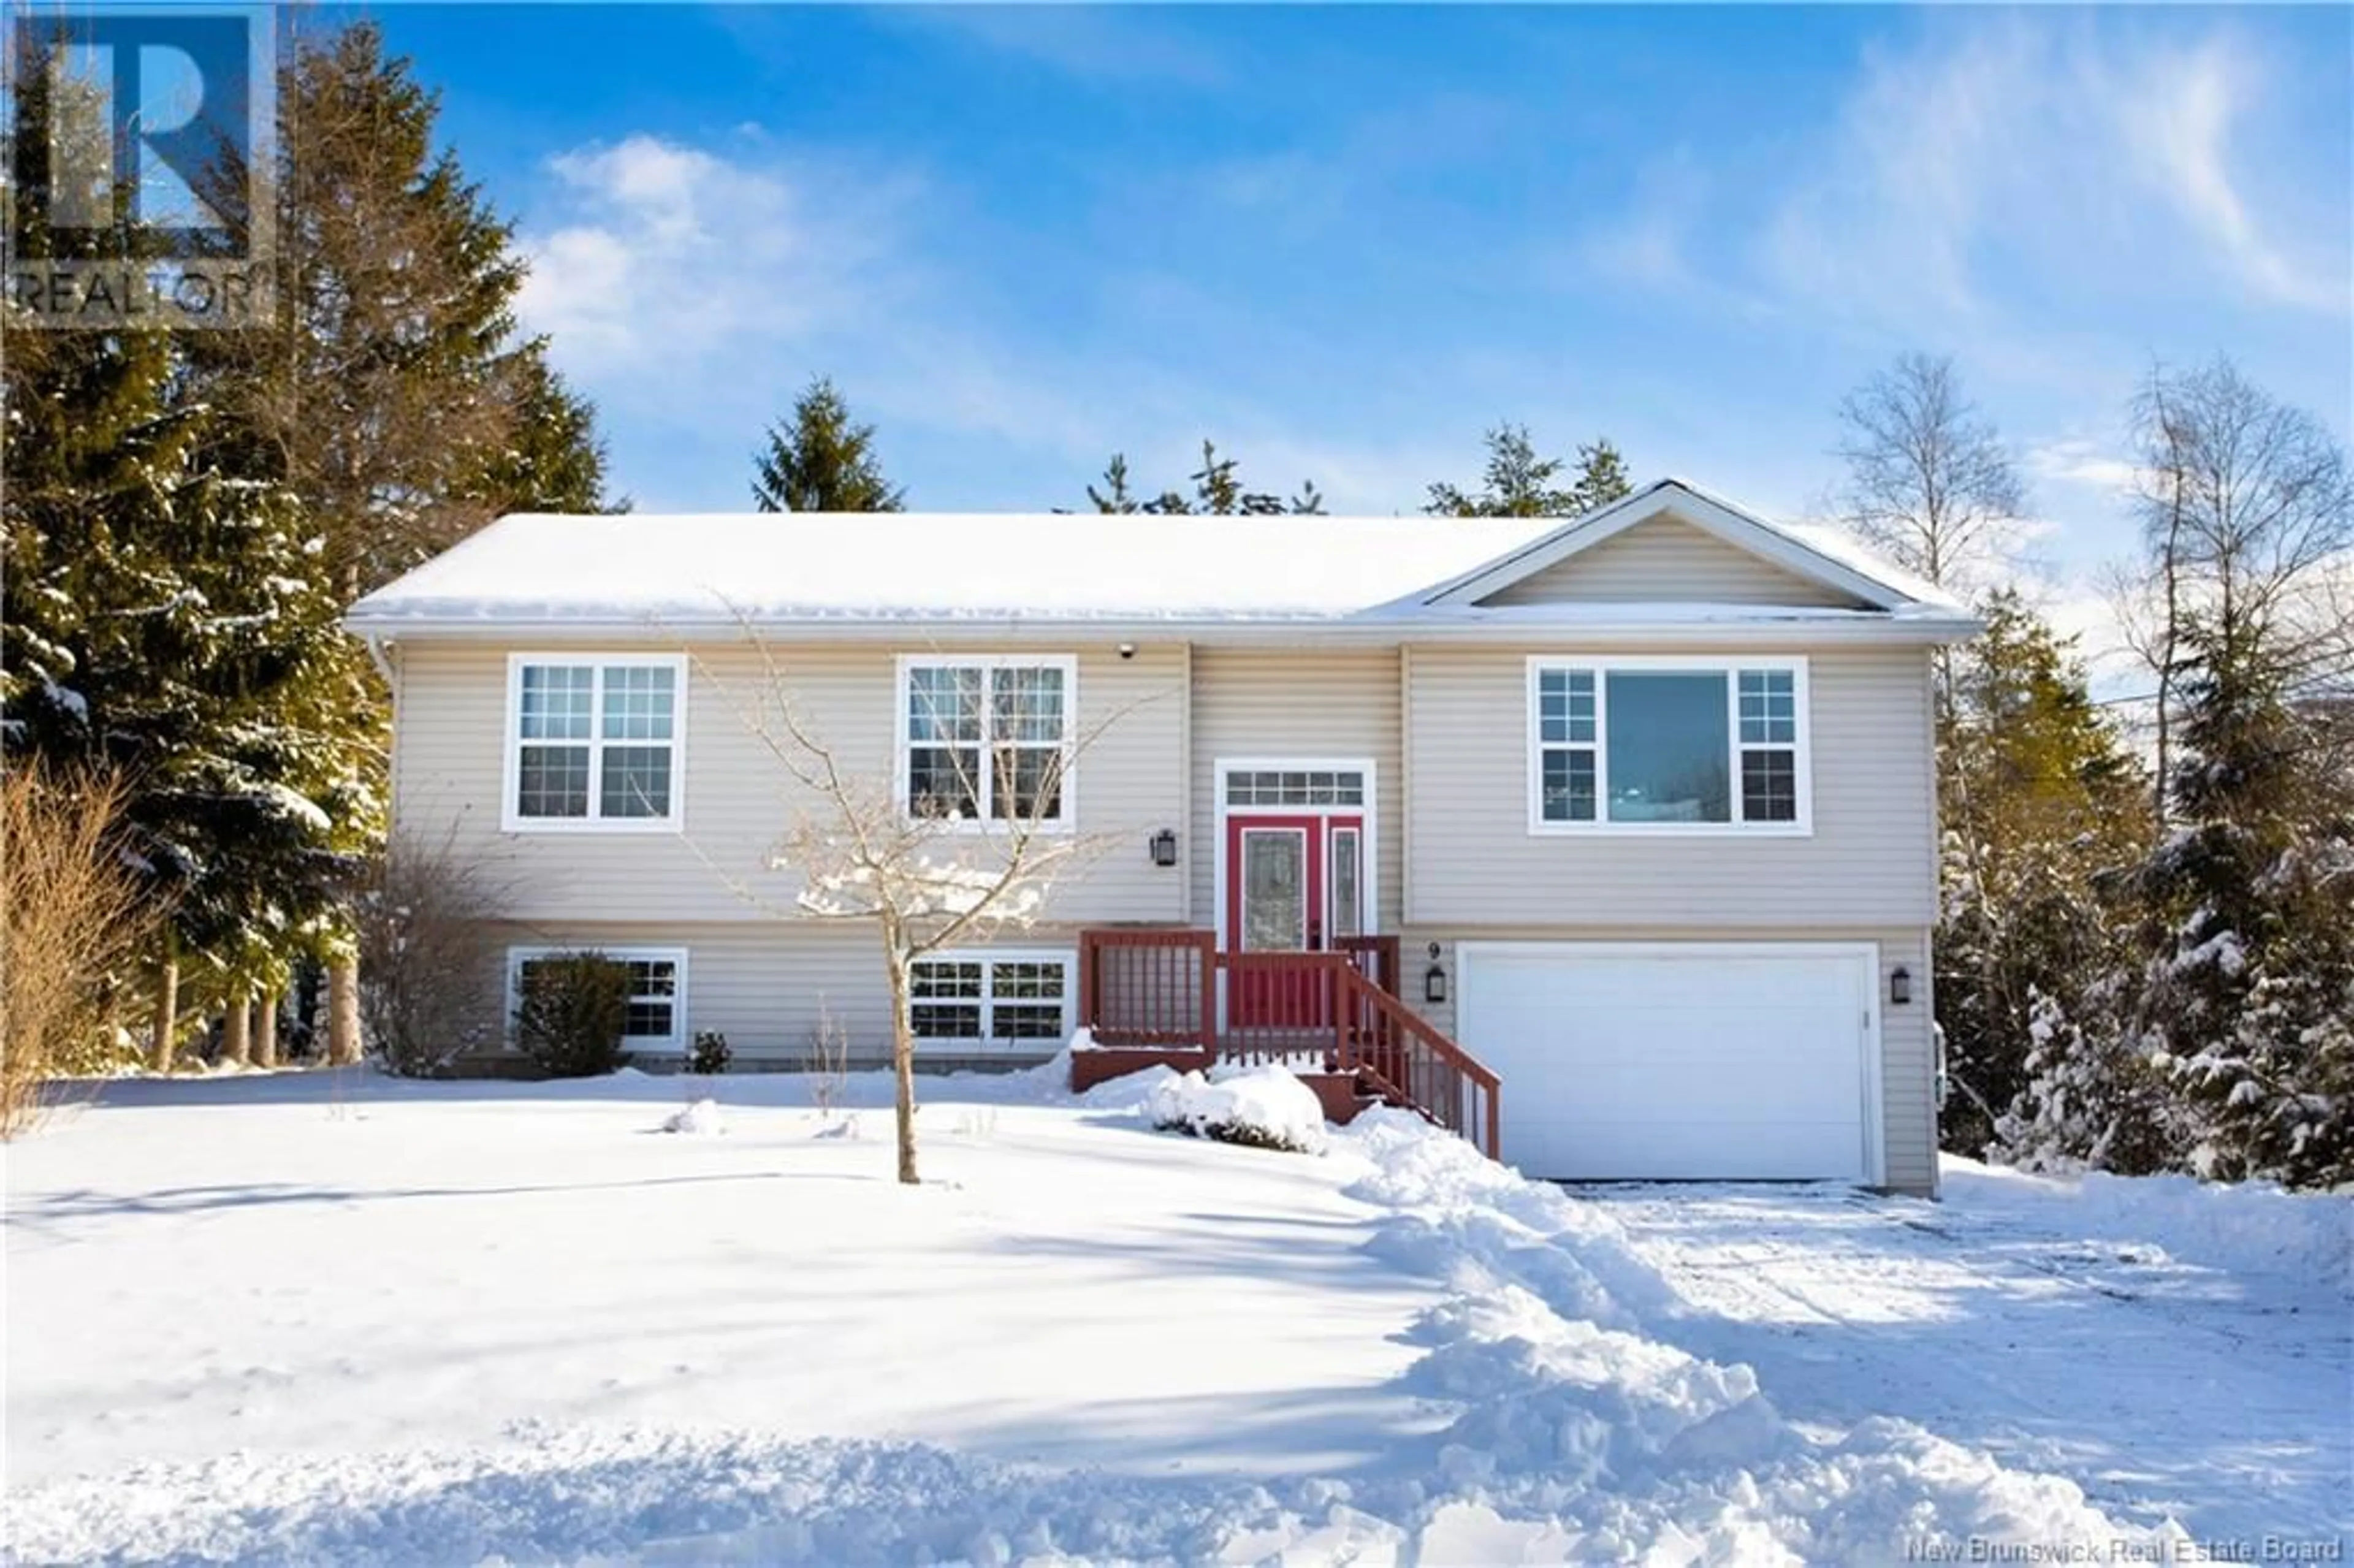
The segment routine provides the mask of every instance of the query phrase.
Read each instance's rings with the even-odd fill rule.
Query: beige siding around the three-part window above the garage
[[[1926,650],[1808,655],[1810,836],[1530,833],[1530,652],[1417,645],[1408,655],[1410,923],[1608,916],[1622,935],[1641,937],[1643,928],[1695,923],[1782,930],[1935,921]]]

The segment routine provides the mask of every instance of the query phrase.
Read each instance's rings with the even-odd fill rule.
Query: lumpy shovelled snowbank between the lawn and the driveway
[[[1521,1561],[1893,1563],[1973,1537],[2062,1561],[2060,1542],[2147,1537],[2072,1481],[1911,1422],[1787,1422],[1747,1366],[1645,1333],[1671,1290],[1596,1203],[1405,1111],[1361,1116],[1344,1144],[1372,1161],[1351,1191],[1398,1210],[1377,1245],[1452,1293],[1412,1373],[1459,1406],[1436,1441],[1457,1507],[1429,1511],[1422,1561],[1511,1561],[1525,1542],[1540,1556]]]

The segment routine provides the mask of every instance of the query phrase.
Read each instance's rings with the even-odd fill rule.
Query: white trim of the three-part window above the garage
[[[1798,817],[1796,822],[1742,822],[1742,683],[1740,671],[1787,671],[1796,709],[1791,744]],[[1594,676],[1594,822],[1551,822],[1544,817],[1544,739],[1540,676],[1547,671],[1589,671]],[[1730,768],[1733,822],[1610,822],[1610,671],[1709,671],[1725,678],[1725,763]],[[1528,831],[1532,838],[1813,838],[1815,836],[1815,746],[1813,697],[1806,659],[1789,655],[1530,655],[1525,720]],[[1556,742],[1558,749],[1558,742]]]

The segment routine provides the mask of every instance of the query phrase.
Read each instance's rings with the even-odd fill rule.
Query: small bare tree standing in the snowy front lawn
[[[871,925],[890,979],[899,1180],[916,1184],[913,968],[925,954],[982,944],[1033,925],[1055,883],[1109,848],[1078,833],[1059,810],[1071,763],[1128,709],[1073,730],[1057,709],[1059,744],[1000,742],[984,718],[998,695],[958,687],[918,697],[939,746],[927,777],[902,796],[887,758],[862,765],[817,732],[774,652],[751,638],[763,685],[739,702],[746,730],[798,791],[791,826],[770,866],[803,885],[791,906],[727,878],[739,897],[789,918]],[[1062,704],[1066,695],[1057,695]],[[986,805],[984,805],[986,803]],[[725,876],[725,873],[723,873]]]

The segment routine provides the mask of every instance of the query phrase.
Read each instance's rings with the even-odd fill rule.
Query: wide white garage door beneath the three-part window
[[[1558,1180],[1878,1180],[1871,946],[1478,942],[1457,1031],[1504,1163]]]

